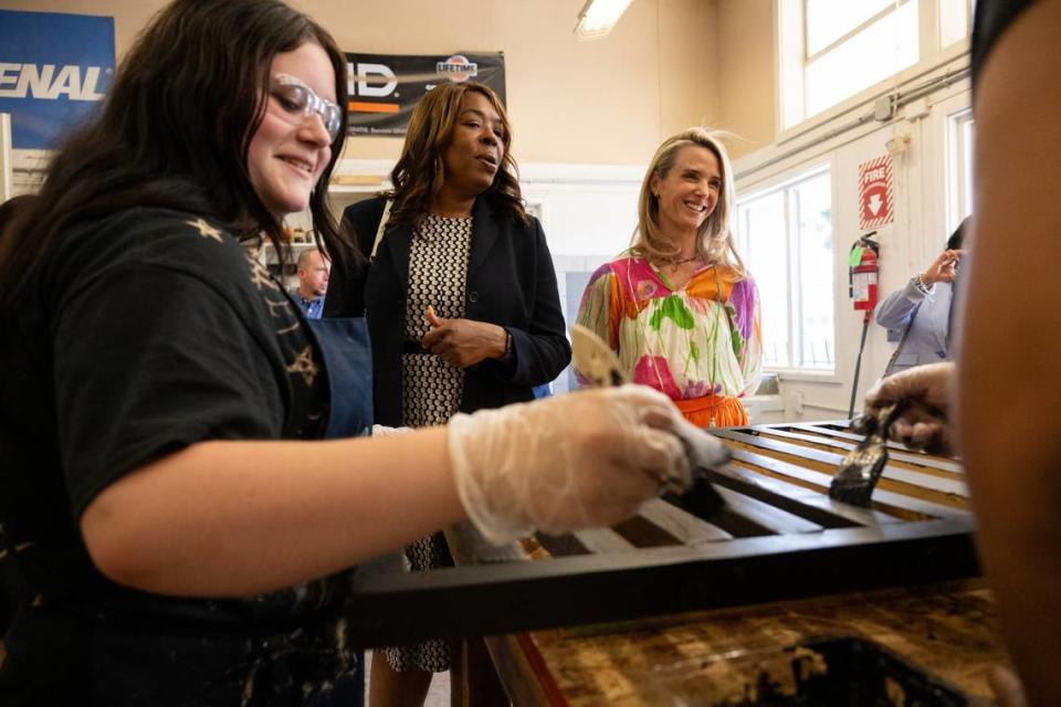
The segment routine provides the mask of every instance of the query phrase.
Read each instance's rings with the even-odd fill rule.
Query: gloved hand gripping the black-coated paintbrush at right
[[[866,393],[865,413],[876,416],[883,408],[907,400],[906,409],[889,432],[891,439],[914,449],[949,453],[952,432],[947,415],[956,377],[952,362],[915,366],[889,376]]]

